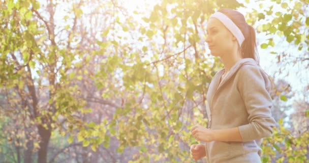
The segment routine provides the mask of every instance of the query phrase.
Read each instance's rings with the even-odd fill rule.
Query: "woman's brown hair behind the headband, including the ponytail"
[[[243,58],[252,58],[259,65],[259,53],[257,50],[256,36],[254,28],[247,24],[244,16],[232,9],[220,9],[219,12],[228,16],[240,29],[244,36],[244,41],[241,44],[240,51]]]

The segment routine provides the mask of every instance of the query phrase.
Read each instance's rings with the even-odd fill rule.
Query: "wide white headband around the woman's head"
[[[210,17],[219,19],[226,26],[226,28],[236,37],[239,46],[241,46],[244,40],[244,36],[237,27],[237,25],[228,16],[221,12],[215,12]]]

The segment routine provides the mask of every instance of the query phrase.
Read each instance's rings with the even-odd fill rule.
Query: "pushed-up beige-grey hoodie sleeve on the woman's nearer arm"
[[[259,66],[243,65],[239,75],[238,89],[249,114],[249,123],[238,127],[242,140],[270,137],[272,127],[276,126],[270,111],[270,81]]]

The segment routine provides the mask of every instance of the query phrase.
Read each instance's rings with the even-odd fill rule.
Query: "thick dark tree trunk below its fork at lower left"
[[[51,135],[51,131],[45,129],[42,125],[38,126],[39,134],[41,137],[40,149],[38,151],[38,162],[46,163],[47,162],[47,151],[48,143]]]

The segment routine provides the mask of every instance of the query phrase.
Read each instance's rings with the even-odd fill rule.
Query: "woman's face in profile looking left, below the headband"
[[[236,38],[217,18],[210,18],[207,22],[206,42],[212,56],[223,57],[232,52]]]

